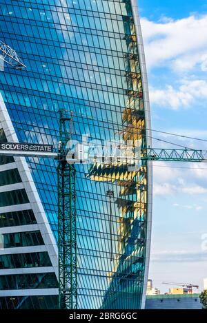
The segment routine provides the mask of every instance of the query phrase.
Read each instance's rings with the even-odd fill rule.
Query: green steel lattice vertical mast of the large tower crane
[[[58,176],[59,309],[77,309],[75,167],[66,161],[71,118],[60,112]]]

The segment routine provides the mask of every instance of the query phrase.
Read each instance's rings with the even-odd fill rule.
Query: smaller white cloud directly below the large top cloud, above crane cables
[[[197,79],[182,79],[177,89],[166,85],[164,89],[150,89],[150,101],[159,107],[178,110],[180,107],[190,107],[197,99],[201,102],[207,98],[207,81]]]

